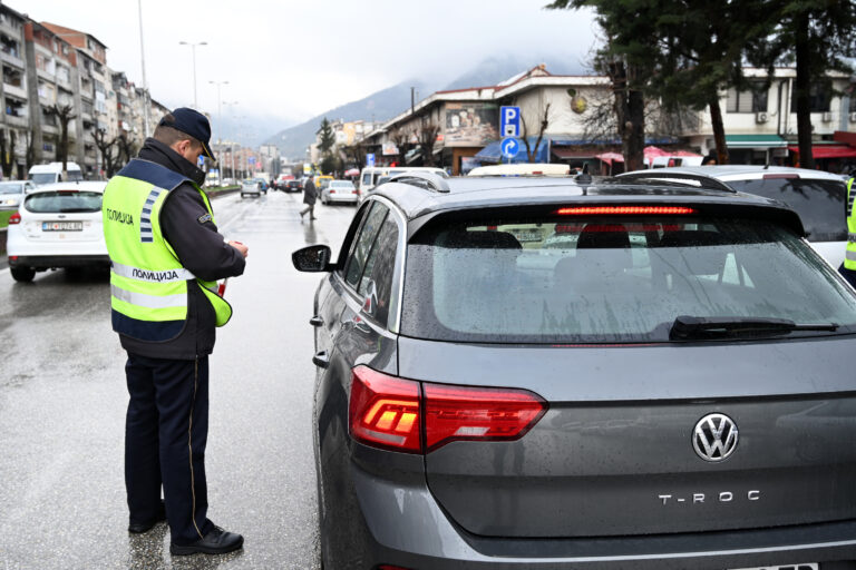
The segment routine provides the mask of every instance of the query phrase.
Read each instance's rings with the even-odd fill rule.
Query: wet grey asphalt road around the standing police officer
[[[109,323],[109,276],[0,269],[0,570],[91,568],[318,569],[312,332],[320,275],[291,252],[338,255],[354,209],[302,195],[214,202],[221,233],[250,247],[230,279],[235,314],[211,357],[208,517],[244,534],[243,551],[172,557],[166,524],[127,532],[125,353]]]

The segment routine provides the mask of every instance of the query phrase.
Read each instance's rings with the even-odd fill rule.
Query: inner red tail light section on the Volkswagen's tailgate
[[[428,383],[422,389],[428,451],[456,440],[517,440],[547,410],[546,402],[525,390]]]

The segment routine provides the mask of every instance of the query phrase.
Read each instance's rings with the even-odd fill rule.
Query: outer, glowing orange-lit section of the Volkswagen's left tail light
[[[368,366],[351,372],[348,422],[357,441],[373,448],[421,453],[419,383]]]

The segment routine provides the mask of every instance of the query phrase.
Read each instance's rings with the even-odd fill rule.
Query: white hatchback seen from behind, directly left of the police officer
[[[106,181],[39,186],[9,218],[6,249],[14,281],[62,267],[109,266],[101,199]]]

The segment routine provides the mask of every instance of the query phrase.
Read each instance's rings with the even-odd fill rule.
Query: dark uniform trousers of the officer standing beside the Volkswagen
[[[125,485],[133,522],[157,520],[160,487],[172,541],[188,544],[212,529],[205,484],[208,358],[128,353]]]

